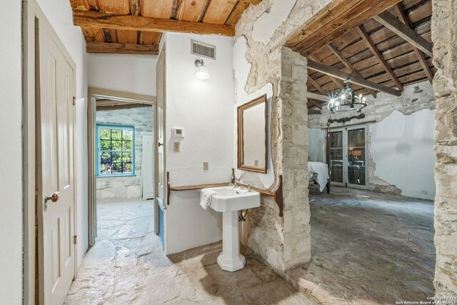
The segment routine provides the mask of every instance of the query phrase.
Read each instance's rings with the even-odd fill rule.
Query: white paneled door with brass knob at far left
[[[40,304],[63,304],[75,274],[74,70],[39,24],[37,214]],[[37,67],[38,68],[38,67]]]

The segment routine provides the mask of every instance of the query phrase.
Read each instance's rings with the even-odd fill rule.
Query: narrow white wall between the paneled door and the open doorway
[[[76,157],[76,213],[78,224],[78,265],[89,248],[89,221],[87,205],[87,54],[86,42],[79,26],[72,23],[69,1],[37,0],[41,10],[59,35],[71,58],[76,63],[75,157]],[[84,99],[83,99],[84,98]],[[83,104],[81,104],[83,103]]]

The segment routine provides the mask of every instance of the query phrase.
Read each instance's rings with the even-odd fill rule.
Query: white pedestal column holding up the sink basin
[[[240,254],[238,235],[238,211],[222,214],[222,253],[217,257],[217,264],[226,271],[244,268],[246,259]]]

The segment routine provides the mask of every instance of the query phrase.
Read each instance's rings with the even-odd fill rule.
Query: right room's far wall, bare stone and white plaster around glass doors
[[[378,134],[368,134],[368,189],[381,193],[433,199],[435,194],[433,180],[435,96],[431,84],[423,81],[405,86],[401,96],[384,93],[378,93],[376,99],[367,96],[367,104],[368,106],[362,111],[365,118],[353,120],[348,124],[376,121],[376,123],[368,124],[368,130],[382,130]],[[421,114],[417,114],[418,112]],[[326,128],[328,118],[339,119],[355,115],[358,115],[356,111],[332,115],[327,107],[323,107],[322,114],[308,116],[311,161],[313,161],[311,158],[316,154],[316,150],[321,150],[319,148],[321,141],[324,144],[323,160],[325,160],[326,132],[322,129]],[[424,117],[421,118],[423,121],[416,121],[416,115],[423,115]],[[342,127],[343,125],[333,123],[331,126]],[[321,130],[321,134],[318,133],[318,130]],[[418,130],[421,131],[421,134],[417,134]],[[384,132],[386,134],[383,134]],[[410,141],[408,138],[411,135],[415,136],[414,141]],[[384,138],[380,138],[380,136],[384,136]],[[312,147],[311,142],[316,146]],[[414,158],[419,158],[421,161],[416,162],[415,166],[411,166],[411,163],[404,161],[404,158],[408,159],[408,157],[413,158],[415,162],[418,160]],[[402,178],[400,179],[400,177]],[[423,177],[420,179],[420,183],[417,181],[418,177]]]

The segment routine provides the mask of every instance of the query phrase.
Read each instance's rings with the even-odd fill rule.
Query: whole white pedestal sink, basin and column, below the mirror
[[[217,263],[226,271],[243,269],[246,259],[240,254],[238,211],[260,206],[260,194],[238,186],[214,187],[211,190],[217,193],[211,200],[211,209],[223,213],[222,253],[219,254]]]

